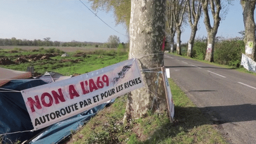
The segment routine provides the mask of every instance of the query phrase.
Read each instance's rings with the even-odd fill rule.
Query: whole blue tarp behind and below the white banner
[[[4,87],[1,88],[21,91],[23,89],[37,87],[43,84],[47,83],[41,81],[41,79],[14,80],[8,82],[8,84],[5,84]],[[105,105],[106,104],[98,105],[91,110],[60,121],[59,123],[55,123],[43,130],[23,132],[26,130],[33,130],[33,125],[21,93],[2,92],[2,90],[0,90],[0,135],[5,133],[22,132],[11,135],[2,135],[2,143],[12,143],[17,140],[23,142],[24,140],[29,139],[29,143],[31,144],[60,142],[63,138],[71,135],[75,130],[78,130],[79,127],[91,119],[91,117],[99,110],[103,109]]]

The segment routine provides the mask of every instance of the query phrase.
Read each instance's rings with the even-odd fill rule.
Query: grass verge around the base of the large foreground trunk
[[[127,96],[124,95],[100,111],[68,143],[226,143],[209,117],[169,79],[175,104],[175,121],[168,114],[153,114],[133,120],[130,127],[122,121]]]

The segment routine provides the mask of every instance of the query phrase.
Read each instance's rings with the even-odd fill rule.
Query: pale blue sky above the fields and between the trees
[[[91,4],[82,0],[89,8]],[[0,1],[0,38],[43,40],[50,37],[52,41],[94,41],[106,42],[110,35],[120,37],[120,41],[126,43],[126,28],[116,25],[113,13],[106,14],[98,11],[97,15],[105,23],[113,27],[109,28],[101,20],[95,17],[80,1],[61,0],[1,0]],[[203,17],[199,23],[199,31],[196,37],[207,36]],[[217,36],[226,38],[241,36],[239,31],[244,30],[242,19],[242,7],[236,0],[233,6],[229,6],[225,20],[220,23]],[[190,37],[190,26],[183,29],[181,40],[183,43]]]

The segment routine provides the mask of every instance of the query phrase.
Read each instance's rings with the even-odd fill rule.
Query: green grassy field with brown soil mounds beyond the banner
[[[2,68],[14,69],[17,71],[27,71],[28,66],[34,66],[34,71],[38,75],[45,72],[58,72],[62,75],[82,74],[104,68],[108,65],[121,62],[127,59],[126,50],[76,50],[68,52],[68,57],[61,57],[65,53],[60,49],[1,49],[0,59],[8,57],[12,65],[1,65]],[[49,58],[41,59],[42,56],[49,55]],[[53,55],[53,56],[52,56]],[[32,57],[32,58],[31,58]],[[33,57],[38,59],[34,60]],[[18,58],[28,60],[28,62],[17,62]]]

